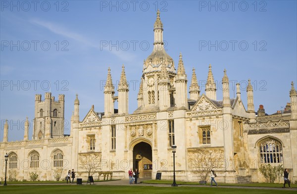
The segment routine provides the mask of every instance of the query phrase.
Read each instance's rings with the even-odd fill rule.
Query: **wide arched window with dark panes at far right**
[[[266,138],[259,143],[261,163],[283,163],[282,144],[275,139]]]

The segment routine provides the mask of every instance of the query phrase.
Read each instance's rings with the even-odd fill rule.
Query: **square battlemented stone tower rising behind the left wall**
[[[51,93],[35,95],[35,118],[33,123],[33,140],[64,137],[64,95],[55,101]]]

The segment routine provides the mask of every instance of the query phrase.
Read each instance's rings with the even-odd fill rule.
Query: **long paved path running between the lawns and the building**
[[[141,179],[139,181],[144,181],[144,179]],[[76,186],[76,183],[74,184],[66,184],[66,183],[37,183],[37,184],[10,184],[10,185],[71,185]],[[86,182],[83,182],[83,185],[86,185]],[[92,183],[93,185],[93,183]],[[94,185],[111,185],[111,186],[131,186],[131,187],[138,187],[138,186],[151,186],[151,187],[171,187],[171,185],[166,184],[146,184],[146,183],[139,183],[137,185],[129,184],[129,180],[117,180],[117,181],[104,181],[104,182],[95,182]],[[3,185],[0,185],[3,186]],[[178,185],[178,187],[207,187],[209,188],[209,185]],[[213,186],[213,188],[216,188]],[[217,188],[237,188],[237,189],[260,189],[260,190],[288,190],[288,191],[297,191],[297,188],[293,189],[283,189],[283,188],[271,188],[271,187],[246,187],[246,186],[218,186]]]

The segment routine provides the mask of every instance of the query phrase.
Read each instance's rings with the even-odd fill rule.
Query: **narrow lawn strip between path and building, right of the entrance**
[[[166,181],[166,180],[147,180],[143,181],[143,183],[148,184],[172,184],[172,181]],[[178,185],[200,185],[198,182],[182,182],[177,181]],[[228,183],[218,183],[222,186],[246,186],[246,187],[276,187],[281,188],[283,187],[283,183],[277,184],[277,183],[246,183],[246,184],[228,184]],[[210,185],[210,182],[208,182],[206,185]],[[288,184],[286,184],[286,187],[289,187]],[[297,188],[296,184],[291,184],[292,188]]]

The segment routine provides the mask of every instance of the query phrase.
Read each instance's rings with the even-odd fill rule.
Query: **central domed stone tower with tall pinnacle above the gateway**
[[[153,50],[144,61],[138,95],[138,110],[142,111],[164,110],[175,106],[176,69],[173,59],[164,49],[163,24],[159,10],[153,32]]]

